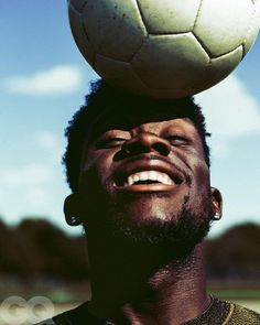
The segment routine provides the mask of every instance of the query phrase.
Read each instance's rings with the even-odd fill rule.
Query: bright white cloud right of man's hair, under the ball
[[[231,75],[223,83],[197,95],[203,107],[213,156],[226,158],[232,140],[260,134],[260,105],[247,87]]]

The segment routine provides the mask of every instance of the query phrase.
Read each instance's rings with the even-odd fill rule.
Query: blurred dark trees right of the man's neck
[[[260,225],[243,224],[206,241],[209,279],[260,284]],[[253,282],[254,281],[254,282]]]

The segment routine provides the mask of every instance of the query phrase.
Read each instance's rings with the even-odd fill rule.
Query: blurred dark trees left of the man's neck
[[[17,227],[0,220],[0,277],[22,280],[86,280],[84,237],[71,237],[44,219],[24,219]]]

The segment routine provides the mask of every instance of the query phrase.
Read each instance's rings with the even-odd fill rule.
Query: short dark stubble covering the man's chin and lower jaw
[[[209,197],[204,203],[201,202],[196,212],[187,208],[188,201],[189,197],[185,196],[182,209],[176,215],[166,216],[165,220],[151,216],[139,224],[126,216],[122,203],[117,203],[109,207],[109,217],[106,217],[102,227],[109,231],[111,239],[119,242],[162,246],[173,252],[183,251],[186,254],[206,237],[213,219]]]

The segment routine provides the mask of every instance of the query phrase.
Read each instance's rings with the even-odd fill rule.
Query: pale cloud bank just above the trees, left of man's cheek
[[[61,191],[62,176],[53,165],[9,166],[0,171],[0,214],[8,223],[34,215],[61,219],[65,194]]]

